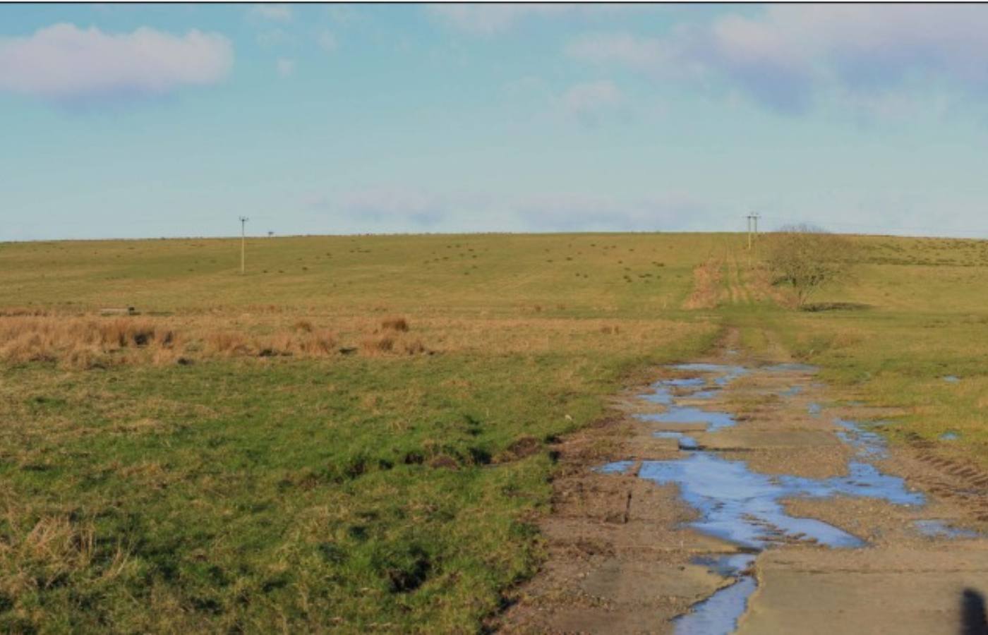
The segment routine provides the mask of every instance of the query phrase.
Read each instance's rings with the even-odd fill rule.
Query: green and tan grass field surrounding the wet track
[[[988,242],[857,240],[818,312],[730,234],[253,239],[246,276],[238,240],[0,245],[0,630],[476,631],[548,443],[728,326],[988,464]],[[153,346],[73,341],[121,320]]]

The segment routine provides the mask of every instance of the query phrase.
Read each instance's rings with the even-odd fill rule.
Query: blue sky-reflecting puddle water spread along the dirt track
[[[864,540],[822,520],[792,516],[784,501],[798,498],[827,499],[856,497],[886,501],[893,505],[920,506],[922,494],[909,490],[903,479],[882,473],[872,460],[886,453],[882,437],[870,432],[862,423],[836,419],[837,436],[854,449],[843,476],[806,478],[795,475],[761,474],[744,460],[729,460],[715,451],[704,450],[694,437],[676,432],[675,425],[690,424],[703,434],[717,433],[738,425],[727,412],[698,403],[714,397],[736,379],[750,373],[794,373],[799,383],[782,391],[783,397],[795,397],[812,376],[815,368],[805,364],[783,363],[764,367],[732,364],[688,363],[670,366],[679,375],[654,383],[640,398],[664,407],[658,414],[637,414],[645,424],[663,424],[671,430],[657,430],[655,437],[678,440],[681,457],[674,460],[616,461],[604,465],[601,472],[628,474],[637,465],[636,476],[658,485],[676,485],[684,502],[698,517],[689,524],[702,533],[736,545],[737,552],[696,558],[694,564],[726,579],[727,585],[695,604],[674,621],[677,633],[731,633],[745,612],[758,581],[753,565],[758,554],[774,546],[807,542],[835,549],[865,546]],[[809,404],[809,414],[820,417],[819,404]],[[743,425],[743,424],[742,424]],[[962,530],[939,520],[918,521],[915,529],[931,537],[966,537]],[[959,533],[958,533],[959,532]]]

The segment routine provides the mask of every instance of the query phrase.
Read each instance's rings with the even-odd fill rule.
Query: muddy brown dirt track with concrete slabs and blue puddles
[[[657,369],[664,388],[560,444],[548,560],[503,630],[988,632],[988,474],[884,447],[857,424],[895,413],[842,403],[812,369],[730,338],[698,361],[745,371]],[[709,413],[728,418],[690,421]],[[794,494],[758,499],[780,484]]]

